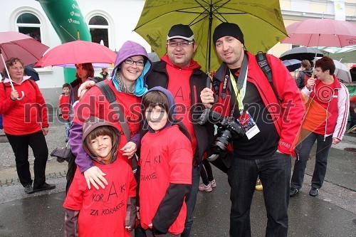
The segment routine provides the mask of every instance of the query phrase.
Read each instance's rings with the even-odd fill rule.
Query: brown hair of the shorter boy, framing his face
[[[96,137],[106,136],[106,135],[108,135],[111,138],[111,142],[112,142],[112,149],[110,151],[110,160],[109,160],[109,163],[111,163],[112,157],[114,157],[114,155],[117,152],[114,149],[115,144],[119,143],[119,138],[117,137],[117,131],[115,130],[114,127],[104,125],[104,126],[100,126],[100,127],[95,128],[93,131],[91,131],[88,134],[87,137],[85,137],[84,144],[85,144],[85,147],[88,148],[90,154],[93,157],[98,157],[98,155],[95,154],[95,152],[93,152],[93,149],[91,148],[91,142],[90,141],[92,139],[95,139]]]

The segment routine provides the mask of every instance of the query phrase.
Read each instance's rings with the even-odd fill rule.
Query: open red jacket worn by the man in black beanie
[[[273,85],[276,88],[278,97],[281,99],[281,101],[278,101],[271,84],[268,82],[266,75],[264,75],[257,63],[256,56],[248,52],[245,53],[248,56],[247,81],[256,86],[264,105],[266,105],[266,108],[272,117],[273,124],[280,137],[278,150],[295,157],[294,144],[298,139],[298,131],[300,130],[300,125],[305,113],[298,88],[295,86],[295,81],[283,63],[281,63],[281,60],[274,56],[266,55],[268,64],[272,70]],[[221,81],[220,91],[224,86],[223,81],[226,67],[227,65],[223,63],[214,74],[213,80]],[[237,74],[239,74],[239,71]],[[231,87],[231,83],[229,86]],[[226,90],[226,93],[229,94],[229,90]],[[223,115],[228,116],[229,112],[231,112],[230,100],[224,101],[219,95],[218,102],[224,105],[224,111],[222,111]]]

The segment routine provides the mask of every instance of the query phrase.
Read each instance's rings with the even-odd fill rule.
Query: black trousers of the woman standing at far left
[[[38,189],[46,182],[48,147],[43,132],[38,131],[28,135],[6,134],[6,137],[9,139],[14,151],[17,174],[23,186],[32,184],[30,164],[28,162],[28,146],[31,147],[35,157],[33,189]]]

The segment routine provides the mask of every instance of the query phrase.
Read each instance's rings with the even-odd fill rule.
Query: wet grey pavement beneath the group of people
[[[65,145],[64,126],[56,122],[46,136],[48,149]],[[356,236],[356,136],[347,135],[333,146],[320,194],[309,196],[314,157],[308,162],[303,188],[290,199],[288,236]],[[56,189],[25,194],[17,180],[14,154],[9,143],[0,143],[0,237],[63,236],[63,208],[67,163],[50,157],[47,181]],[[33,157],[30,155],[33,163]],[[293,162],[294,163],[294,162]],[[199,192],[191,236],[229,236],[229,184],[226,174],[214,169],[217,186]],[[255,191],[251,207],[253,236],[264,236],[266,209],[263,192]]]

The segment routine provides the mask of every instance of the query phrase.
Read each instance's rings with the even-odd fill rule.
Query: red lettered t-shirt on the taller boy
[[[192,184],[192,145],[177,125],[147,134],[141,141],[140,218],[143,228],[149,228],[167,188],[172,184]],[[183,202],[169,233],[184,230],[187,206]]]

